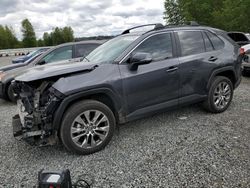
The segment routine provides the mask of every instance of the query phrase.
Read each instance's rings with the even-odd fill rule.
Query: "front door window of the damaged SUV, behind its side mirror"
[[[134,51],[150,53],[153,61],[160,61],[173,57],[172,39],[170,33],[157,34],[141,43]]]

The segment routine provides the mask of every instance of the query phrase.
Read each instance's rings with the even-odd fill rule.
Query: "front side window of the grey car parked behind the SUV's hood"
[[[72,46],[58,48],[43,58],[46,63],[72,59]],[[42,61],[43,61],[42,60]]]

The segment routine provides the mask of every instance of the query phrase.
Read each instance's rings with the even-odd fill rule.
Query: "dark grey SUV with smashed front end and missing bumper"
[[[117,124],[193,103],[225,111],[240,84],[239,46],[197,25],[126,30],[81,62],[28,69],[13,81],[14,136],[78,154],[103,149]],[[140,26],[142,27],[142,26]]]

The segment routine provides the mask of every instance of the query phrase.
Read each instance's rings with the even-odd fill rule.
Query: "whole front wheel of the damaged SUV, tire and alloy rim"
[[[84,100],[66,111],[60,137],[69,151],[88,155],[102,150],[110,142],[115,124],[114,114],[109,107],[95,100]]]

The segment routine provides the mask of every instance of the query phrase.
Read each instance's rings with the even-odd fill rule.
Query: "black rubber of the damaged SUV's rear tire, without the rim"
[[[231,95],[228,99],[228,103],[223,108],[219,108],[215,104],[216,102],[214,101],[214,95],[215,95],[215,90],[217,89],[219,84],[222,84],[222,83],[228,84]],[[224,76],[217,76],[214,78],[214,80],[210,86],[208,98],[206,99],[206,101],[204,101],[203,107],[207,111],[212,112],[212,113],[222,113],[225,110],[227,110],[228,107],[230,106],[232,99],[233,99],[233,92],[234,92],[234,89],[233,89],[233,84],[232,84],[231,80],[228,79],[227,77],[224,77]]]

